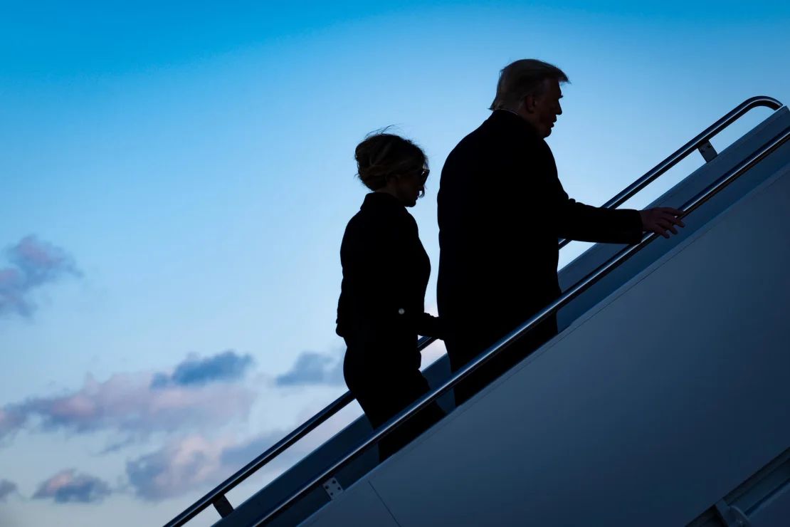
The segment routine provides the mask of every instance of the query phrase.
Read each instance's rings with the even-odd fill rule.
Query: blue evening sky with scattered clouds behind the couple
[[[4,2],[2,13],[3,526],[163,524],[344,392],[339,247],[366,192],[354,148],[372,130],[393,126],[429,156],[411,212],[435,312],[438,175],[489,115],[507,63],[540,58],[570,77],[548,143],[566,190],[591,205],[748,97],[790,98],[786,2]],[[692,156],[626,206],[701,164]],[[483,183],[480,199],[506,191]],[[562,250],[561,265],[584,248]],[[319,428],[231,502],[357,415]]]

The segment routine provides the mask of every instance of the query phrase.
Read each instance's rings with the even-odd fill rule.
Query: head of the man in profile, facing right
[[[569,82],[557,66],[534,58],[523,58],[499,73],[491,110],[510,110],[529,122],[541,137],[548,137],[562,114],[560,83]]]

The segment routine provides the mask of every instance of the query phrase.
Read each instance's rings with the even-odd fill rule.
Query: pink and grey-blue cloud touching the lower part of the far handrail
[[[126,476],[134,494],[149,501],[182,495],[219,484],[284,434],[259,435],[243,442],[190,435],[160,450],[127,461]]]

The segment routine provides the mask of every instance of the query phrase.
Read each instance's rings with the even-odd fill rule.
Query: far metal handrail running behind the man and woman
[[[699,145],[705,141],[708,141],[721,130],[724,130],[724,128],[732,124],[732,122],[735,122],[736,119],[739,119],[742,115],[747,113],[747,111],[761,106],[778,110],[780,107],[782,107],[782,104],[778,100],[769,96],[755,96],[751,97],[751,99],[743,101],[743,103],[733,108],[732,111],[730,111],[727,115],[724,115],[724,117],[703,130],[701,134],[698,134],[697,137],[694,137],[694,139],[688,141],[686,145],[683,145],[680,149],[676,150],[671,156],[668,156],[665,160],[661,161],[660,164],[657,164],[653,169],[648,171],[645,175],[642,175],[641,178],[634,181],[634,183],[631,183],[619,194],[615,195],[615,197],[611,198],[602,206],[604,208],[611,209],[622,205],[623,202],[633,197],[634,194],[637,194],[640,190],[645,188],[645,186],[649,185],[649,183],[652,183],[656,178],[664,174],[664,172],[668,171],[680,160],[683,160],[683,158],[693,152],[694,149],[698,149]],[[569,242],[570,240],[567,239],[561,240],[559,242],[559,248],[562,249],[562,247],[565,247]],[[427,348],[427,346],[434,340],[436,340],[434,337],[420,338],[417,342],[418,351],[421,352],[424,348]],[[220,512],[220,515],[226,516],[227,514],[223,514],[223,511],[232,510],[230,503],[228,503],[227,499],[225,498],[225,495],[228,493],[228,491],[231,491],[231,489],[241,484],[244,480],[246,480],[246,478],[252,476],[254,472],[257,472],[259,469],[261,469],[261,467],[269,463],[269,461],[272,461],[275,457],[282,454],[284,450],[288,449],[289,446],[292,446],[295,442],[299,441],[299,439],[302,439],[305,435],[310,433],[310,431],[313,431],[314,428],[324,423],[337,412],[340,412],[341,409],[343,409],[352,401],[354,401],[354,396],[350,391],[338,397],[324,409],[310,417],[309,420],[299,425],[299,427],[296,427],[295,430],[290,434],[286,435],[283,439],[280,439],[280,441],[276,442],[273,446],[270,446],[269,449],[265,450],[263,454],[255,457],[254,460],[247,463],[242,469],[239,469],[232,476],[228,477],[228,479],[224,480],[221,484],[215,487],[212,491],[206,493],[201,499],[198,499],[197,502],[193,503],[181,514],[173,518],[171,521],[168,521],[164,527],[179,527],[180,525],[184,525],[187,521],[190,521],[190,519],[197,516],[202,510],[212,504],[215,506],[216,510]]]

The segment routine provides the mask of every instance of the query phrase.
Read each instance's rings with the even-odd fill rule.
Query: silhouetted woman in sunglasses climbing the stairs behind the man
[[[373,192],[348,222],[340,246],[337,334],[348,347],[348,389],[378,428],[427,393],[417,336],[440,336],[438,319],[423,305],[431,262],[406,211],[424,194],[428,168],[417,145],[393,134],[367,137],[355,158],[359,179]],[[382,439],[379,458],[394,454],[443,415],[435,403],[423,409]]]

